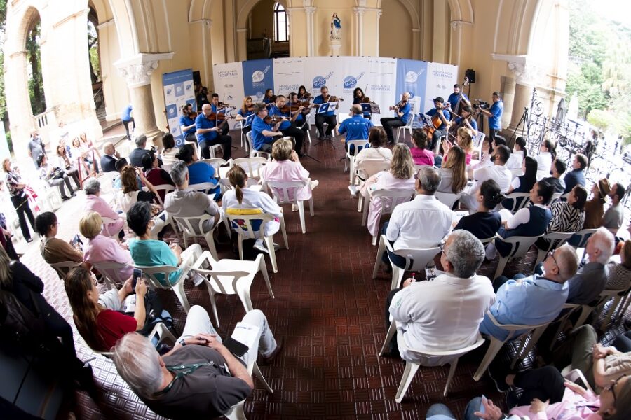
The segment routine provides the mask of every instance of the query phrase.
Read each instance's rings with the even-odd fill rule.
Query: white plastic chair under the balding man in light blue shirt
[[[513,358],[513,361],[510,363],[511,368],[515,367],[515,363],[517,362],[517,360],[520,360],[526,354],[528,354],[528,352],[538,342],[538,339],[541,337],[541,335],[543,334],[543,331],[549,324],[546,322],[539,325],[517,325],[517,324],[503,325],[501,323],[498,323],[498,321],[495,319],[493,315],[491,315],[490,312],[487,312],[487,316],[489,316],[489,318],[491,319],[491,322],[494,323],[497,327],[508,331],[508,335],[506,336],[506,339],[503,339],[503,340],[497,339],[496,337],[489,335],[488,338],[491,340],[491,344],[489,345],[489,349],[487,350],[487,353],[484,355],[482,362],[480,362],[480,367],[477,368],[477,371],[473,375],[473,380],[475,381],[480,380],[484,372],[486,372],[487,368],[489,367],[489,365],[491,364],[491,362],[497,355],[497,353],[500,351],[500,349],[506,342],[509,342],[513,339],[520,339],[520,347],[519,349],[517,349],[517,353],[515,353],[515,357]],[[516,336],[517,332],[522,331],[522,330],[525,330],[525,332],[522,332],[520,335]],[[526,337],[528,337],[531,334],[532,334],[532,337],[530,337],[529,340],[526,340]],[[526,341],[528,341],[527,346],[525,346]],[[524,349],[524,346],[525,346],[525,349]]]

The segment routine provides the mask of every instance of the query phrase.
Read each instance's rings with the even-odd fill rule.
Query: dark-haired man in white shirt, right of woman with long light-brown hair
[[[510,181],[513,179],[513,174],[506,168],[508,158],[510,158],[510,148],[502,144],[497,146],[493,151],[491,159],[494,165],[481,167],[473,171],[473,180],[475,183],[468,188],[466,193],[460,196],[460,202],[466,205],[470,214],[477,211],[477,192],[480,190],[482,183],[487,181],[487,179],[494,180],[498,184],[501,193],[506,194],[506,191],[508,191],[510,187]]]

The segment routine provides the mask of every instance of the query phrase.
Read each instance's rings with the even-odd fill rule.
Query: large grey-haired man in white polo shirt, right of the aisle
[[[457,350],[475,343],[480,322],[495,302],[491,281],[475,274],[484,260],[480,239],[466,230],[454,230],[441,248],[445,272],[438,272],[432,281],[407,279],[386,301],[386,328],[390,319],[397,322],[391,356],[397,349],[409,349],[401,351],[401,357],[423,366],[443,365],[453,356],[417,352]]]

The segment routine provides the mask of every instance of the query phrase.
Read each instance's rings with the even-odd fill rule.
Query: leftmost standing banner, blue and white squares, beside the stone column
[[[162,86],[169,131],[173,134],[175,146],[180,147],[184,144],[182,130],[179,130],[180,109],[186,103],[192,104],[193,109],[197,109],[193,86],[193,70],[186,69],[173,71],[172,73],[163,73]]]

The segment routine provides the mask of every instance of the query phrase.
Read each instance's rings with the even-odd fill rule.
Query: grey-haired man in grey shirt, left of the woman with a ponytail
[[[164,209],[172,217],[197,217],[210,214],[210,218],[203,222],[204,232],[210,232],[219,222],[219,207],[208,194],[189,189],[189,168],[185,162],[175,162],[171,167],[171,179],[175,183],[175,191],[164,197]],[[198,230],[198,223],[194,223]],[[200,232],[196,232],[200,233]]]

